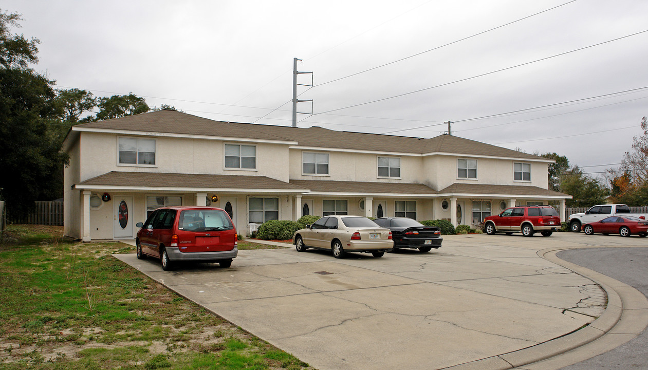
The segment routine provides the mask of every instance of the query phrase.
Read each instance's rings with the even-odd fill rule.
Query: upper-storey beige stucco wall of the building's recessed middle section
[[[302,173],[302,153],[318,152],[313,150],[290,149],[290,178],[305,180],[330,180],[330,181],[384,181],[419,183],[425,177],[422,174],[420,156],[380,156],[400,158],[400,178],[378,178],[378,155],[329,152],[329,176],[312,176]]]

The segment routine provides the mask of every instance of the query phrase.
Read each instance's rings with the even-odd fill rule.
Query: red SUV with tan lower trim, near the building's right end
[[[498,232],[511,235],[522,231],[525,237],[533,237],[536,231],[540,231],[543,237],[548,237],[557,227],[561,227],[561,218],[558,211],[549,205],[521,205],[484,218],[484,231],[488,235]]]

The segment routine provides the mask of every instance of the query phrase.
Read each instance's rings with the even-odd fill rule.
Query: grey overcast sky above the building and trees
[[[23,15],[17,32],[41,40],[36,70],[57,86],[132,92],[218,121],[290,126],[295,57],[315,84],[299,87],[315,113],[299,114],[299,127],[434,137],[452,121],[453,135],[557,152],[599,172],[616,167],[648,115],[645,0],[4,0],[1,8]]]

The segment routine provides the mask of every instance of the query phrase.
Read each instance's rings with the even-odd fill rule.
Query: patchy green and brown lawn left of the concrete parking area
[[[61,235],[0,241],[0,369],[312,369],[111,257],[132,246]]]

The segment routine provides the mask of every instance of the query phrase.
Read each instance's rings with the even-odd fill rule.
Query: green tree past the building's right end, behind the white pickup
[[[608,189],[601,181],[585,176],[578,166],[564,172],[561,192],[573,196],[573,199],[567,200],[567,207],[590,207],[601,204],[608,195]]]

